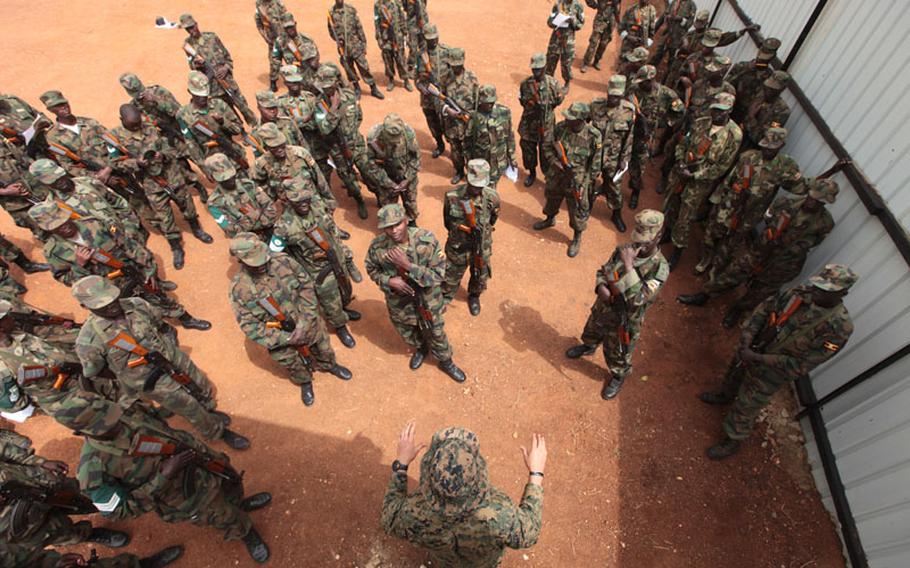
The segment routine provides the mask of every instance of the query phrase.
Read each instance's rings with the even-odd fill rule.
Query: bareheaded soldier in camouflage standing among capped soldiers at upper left
[[[131,104],[122,105],[120,123],[122,126],[113,131],[119,145],[111,148],[111,154],[122,160],[122,167],[142,180],[145,197],[155,214],[152,224],[164,234],[174,255],[174,268],[180,270],[183,268],[184,252],[172,203],[180,209],[193,236],[205,244],[212,243],[211,235],[199,224],[196,204],[189,194],[188,186],[192,180],[181,165],[177,151],[158,133],[157,128],[142,121],[138,108]],[[121,155],[123,150],[128,153]]]

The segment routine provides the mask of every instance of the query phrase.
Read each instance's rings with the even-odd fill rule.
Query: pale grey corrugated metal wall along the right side
[[[699,0],[711,10],[716,0]],[[785,60],[809,20],[815,0],[740,0],[766,37],[778,37]],[[714,26],[736,30],[742,22],[726,0]],[[903,226],[910,227],[910,2],[829,0],[790,67],[857,166]],[[750,59],[744,38],[724,48]],[[814,175],[835,156],[799,105],[785,148]],[[828,262],[862,275],[847,298],[856,331],[844,351],[812,376],[819,398],[873,367],[910,342],[910,269],[881,223],[871,216],[843,176],[831,211],[834,232],[814,251],[803,276]],[[847,498],[871,566],[910,566],[910,358],[892,365],[828,404],[822,416]],[[808,424],[810,463],[826,505],[833,511],[818,451]]]

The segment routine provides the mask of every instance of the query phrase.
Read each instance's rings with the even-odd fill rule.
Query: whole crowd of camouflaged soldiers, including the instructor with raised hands
[[[531,58],[519,93],[524,186],[535,184],[538,166],[546,178],[545,218],[534,228],[553,226],[565,201],[574,257],[603,195],[616,229],[626,232],[622,178],[629,171],[634,210],[642,172],[661,154],[656,191],[664,207],[638,212],[630,241],[597,271],[582,342],[566,356],[589,355],[602,344],[608,374],[601,395],[616,397],[631,373],[645,312],[688,247],[692,226],[703,223],[695,272],[705,282],[678,301],[700,306],[743,285],[724,325],[750,314],[721,388],[700,395],[709,404],[732,404],[723,439],[708,450],[721,459],[739,449],[777,390],[836,354],[852,332],[842,298],[857,275],[848,267],[828,265],[802,285],[782,288],[831,231],[826,206],[838,186],[830,176],[845,164],[809,178],[782,151],[790,109],[781,94],[790,77],[771,66],[778,40],[765,39],[754,60],[733,65],[715,49],[749,29],[709,27],[708,13],[697,12],[692,0],[674,0],[661,15],[648,0],[622,14],[618,0],[586,3],[595,11],[594,29],[580,71],[600,69],[615,23],[619,72],[609,77],[606,97],[568,105],[557,122],[572,79],[575,34],[585,21],[578,0],[558,0],[547,19],[547,52]],[[111,130],[73,114],[59,91],[40,97],[53,120],[20,98],[0,95],[0,205],[43,243],[47,261],[34,262],[0,241],[0,407],[13,414],[40,409],[84,439],[73,479],[66,464],[36,456],[27,438],[0,431],[4,566],[87,565],[78,554],[46,547],[126,545],[125,533],[69,518],[94,511],[111,520],[154,511],[167,522],[211,525],[227,540],[242,540],[255,561],[269,557],[250,512],[271,496],[245,496],[228,455],[207,443],[244,450],[250,441],[229,428],[211,381],[180,349],[168,321],[196,330],[211,324],[187,312],[146,246],[149,229],[159,231],[174,268],[183,267],[173,206],[195,238],[212,242],[191,188],[230,239],[240,266],[229,299],[241,329],[287,370],[305,405],[315,401],[317,371],[352,378],[328,332],[353,348],[348,322],[361,317],[351,303],[362,275],[344,243],[350,235],[333,218],[333,172],[361,218],[368,217],[361,182],[380,207],[366,272],[413,347],[410,368],[432,354],[449,377],[465,380],[453,362],[443,312],[465,272],[469,311],[481,311],[500,210],[497,184],[503,175],[517,179],[511,112],[497,101],[495,87],[479,84],[465,68],[463,49],[440,42],[426,0],[376,0],[388,89],[396,73],[405,89],[413,82],[436,143],[432,157],[448,145],[454,166],[441,247],[417,226],[421,152],[414,129],[389,113],[366,137],[360,132],[360,78],[374,97],[383,95],[369,70],[356,9],[334,0],[327,16],[346,77],[320,61],[315,42],[297,29],[281,0],[256,0],[255,22],[268,48],[271,87],[256,93],[258,114],[234,80],[228,50],[190,14],[180,17],[190,67],[185,105],[133,73],[120,77],[129,102]],[[553,77],[557,64],[563,85]],[[214,185],[211,194],[200,173]],[[660,250],[665,242],[673,247],[669,259]],[[25,288],[7,262],[27,273],[50,270],[89,312],[85,321],[25,303],[19,297]],[[207,442],[169,426],[175,414]],[[495,566],[505,547],[536,542],[542,437],[525,451],[529,483],[515,506],[490,485],[476,435],[460,428],[436,433],[421,462],[420,490],[408,495],[407,467],[423,449],[414,431],[409,424],[399,439],[383,504],[386,531],[425,547],[442,566]],[[121,554],[91,562],[159,567],[181,554],[174,546],[143,559]]]

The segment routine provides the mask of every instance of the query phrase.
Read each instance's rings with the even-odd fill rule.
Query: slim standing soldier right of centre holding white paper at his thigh
[[[607,205],[613,210],[610,219],[620,233],[626,232],[626,223],[622,219],[621,180],[629,168],[632,155],[632,131],[635,126],[635,105],[625,99],[626,78],[613,75],[607,86],[606,99],[594,99],[591,103],[591,126],[600,132],[603,140],[601,151],[601,185],[591,193],[588,209],[594,208],[598,195],[603,195]],[[591,179],[591,188],[596,183]]]

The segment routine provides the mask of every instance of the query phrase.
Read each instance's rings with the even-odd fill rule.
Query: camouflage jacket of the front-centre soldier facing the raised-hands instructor
[[[367,250],[367,273],[385,294],[392,321],[409,325],[417,324],[414,300],[408,296],[399,296],[389,288],[389,280],[400,276],[398,268],[385,259],[385,253],[393,247],[402,249],[411,260],[411,270],[406,277],[420,286],[427,308],[434,315],[442,313],[445,307],[441,287],[446,271],[445,254],[433,233],[418,227],[408,227],[406,244],[399,245],[388,235],[382,234],[373,239]]]

